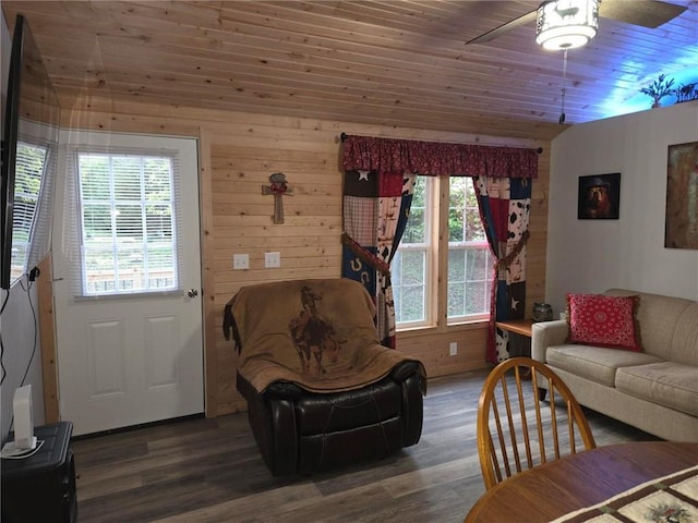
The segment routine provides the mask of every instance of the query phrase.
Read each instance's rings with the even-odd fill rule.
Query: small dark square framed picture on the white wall
[[[579,177],[577,218],[617,220],[621,207],[621,173]]]

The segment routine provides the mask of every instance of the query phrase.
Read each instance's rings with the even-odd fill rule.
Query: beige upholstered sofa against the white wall
[[[672,441],[698,442],[698,302],[638,295],[642,352],[570,344],[565,320],[533,324],[531,355],[546,363],[580,404]],[[544,394],[544,391],[541,391]]]

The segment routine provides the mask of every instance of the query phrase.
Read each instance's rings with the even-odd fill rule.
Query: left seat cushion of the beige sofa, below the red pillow
[[[660,360],[643,352],[603,349],[590,345],[549,346],[545,363],[606,387],[615,386],[619,367],[659,363]]]

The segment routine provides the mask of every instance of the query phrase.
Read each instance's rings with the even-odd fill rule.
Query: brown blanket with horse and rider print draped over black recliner
[[[378,381],[401,362],[419,363],[378,343],[374,316],[370,294],[353,280],[279,281],[240,289],[226,305],[224,332],[229,339],[232,331],[238,372],[258,392],[279,380],[336,392]]]

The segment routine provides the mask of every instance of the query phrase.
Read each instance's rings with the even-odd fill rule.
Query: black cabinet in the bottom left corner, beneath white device
[[[29,458],[2,460],[2,523],[77,521],[72,433],[70,422],[35,427],[41,448]]]

